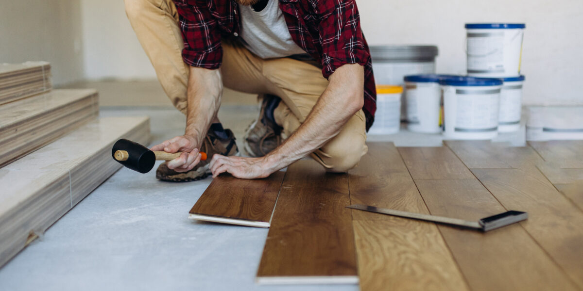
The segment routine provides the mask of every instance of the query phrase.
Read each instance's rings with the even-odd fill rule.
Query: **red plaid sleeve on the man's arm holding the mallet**
[[[180,16],[185,63],[206,69],[220,68],[223,59],[220,30],[209,10],[210,1],[174,0]]]

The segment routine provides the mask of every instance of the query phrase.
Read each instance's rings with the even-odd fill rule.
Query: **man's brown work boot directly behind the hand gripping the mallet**
[[[170,182],[188,182],[205,179],[210,175],[209,164],[214,154],[229,156],[239,153],[233,132],[230,129],[225,129],[221,135],[223,137],[220,137],[212,129],[209,129],[209,133],[206,134],[201,146],[201,151],[206,152],[206,161],[201,161],[192,170],[182,173],[168,169],[166,162],[163,162],[156,170],[156,178]]]

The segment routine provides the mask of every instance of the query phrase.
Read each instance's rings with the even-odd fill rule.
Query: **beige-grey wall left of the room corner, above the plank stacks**
[[[48,61],[55,85],[83,79],[79,0],[2,1],[0,63]]]

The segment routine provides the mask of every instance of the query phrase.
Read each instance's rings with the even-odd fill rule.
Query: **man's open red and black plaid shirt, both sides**
[[[220,68],[222,37],[238,37],[241,31],[238,4],[234,0],[174,0],[184,39],[182,58],[188,65]],[[327,79],[346,63],[364,66],[366,128],[374,120],[376,90],[370,52],[360,30],[354,0],[279,0],[291,38],[322,63]]]

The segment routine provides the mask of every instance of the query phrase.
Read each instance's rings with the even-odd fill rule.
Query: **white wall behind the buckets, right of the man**
[[[465,23],[526,23],[524,103],[583,104],[582,0],[357,0],[357,4],[369,44],[436,44],[440,73],[465,73]]]

